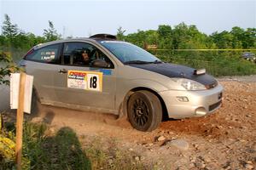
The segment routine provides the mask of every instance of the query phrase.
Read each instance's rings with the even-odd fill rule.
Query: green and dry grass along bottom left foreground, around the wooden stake
[[[8,124],[6,131],[14,134],[14,124]],[[24,124],[22,156],[29,162],[24,169],[146,169],[141,162],[135,161],[135,154],[119,150],[114,140],[107,149],[102,149],[98,139],[82,147],[70,127],[62,127],[57,133],[49,132],[46,124]],[[0,169],[14,168],[14,160],[0,161]]]

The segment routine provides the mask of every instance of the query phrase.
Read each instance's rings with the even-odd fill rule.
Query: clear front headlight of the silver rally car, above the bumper
[[[195,82],[186,78],[173,78],[174,82],[177,82],[186,90],[206,90],[207,88],[200,82]]]

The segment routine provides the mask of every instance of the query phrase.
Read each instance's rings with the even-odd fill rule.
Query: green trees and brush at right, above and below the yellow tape
[[[164,50],[150,50],[160,59],[194,68],[207,68],[213,76],[256,74],[256,65],[241,59],[242,52],[197,51],[186,49],[256,48],[256,29],[235,26],[231,31],[213,32],[208,36],[196,26],[181,23],[173,28],[161,25],[157,31],[140,31],[124,37],[126,42],[142,48],[148,44]],[[177,49],[181,49],[177,51]]]

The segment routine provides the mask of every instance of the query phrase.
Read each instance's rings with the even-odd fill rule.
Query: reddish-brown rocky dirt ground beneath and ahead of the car
[[[253,76],[254,78],[255,76]],[[255,169],[256,78],[219,79],[224,103],[210,116],[168,120],[151,133],[133,129],[125,119],[39,105],[32,122],[49,123],[51,131],[71,127],[82,145],[99,140],[102,148],[136,153],[148,169]],[[85,137],[85,138],[84,138]]]

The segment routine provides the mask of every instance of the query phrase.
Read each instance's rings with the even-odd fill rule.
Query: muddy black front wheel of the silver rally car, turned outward
[[[162,120],[160,100],[148,91],[137,91],[131,95],[127,113],[131,126],[140,131],[153,131]]]

